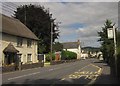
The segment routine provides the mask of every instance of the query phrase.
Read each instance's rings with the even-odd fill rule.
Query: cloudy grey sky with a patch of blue
[[[8,0],[6,0],[8,1]],[[12,1],[12,0],[11,0]],[[39,1],[39,0],[38,0]],[[97,32],[101,31],[106,19],[111,19],[118,25],[118,0],[107,0],[106,2],[78,2],[78,0],[58,0],[54,2],[12,2],[16,5],[35,4],[49,8],[59,24],[59,42],[74,42],[78,39],[81,46],[100,47],[97,41]],[[62,1],[62,2],[61,2]],[[75,2],[76,1],[76,2]],[[89,1],[89,0],[87,0]],[[103,1],[103,0],[100,0]],[[109,2],[110,1],[110,2]],[[9,4],[9,3],[8,3]],[[5,12],[4,12],[5,13]],[[8,16],[12,13],[5,13]]]

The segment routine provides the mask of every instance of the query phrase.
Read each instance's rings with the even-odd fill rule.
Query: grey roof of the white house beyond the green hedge
[[[63,49],[73,49],[78,48],[79,42],[65,42],[63,44]]]

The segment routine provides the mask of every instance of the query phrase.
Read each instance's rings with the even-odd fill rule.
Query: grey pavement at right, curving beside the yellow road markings
[[[93,64],[103,69],[100,77],[95,81],[94,85],[108,84],[108,85],[119,85],[118,79],[111,74],[110,66],[103,61],[94,61]]]

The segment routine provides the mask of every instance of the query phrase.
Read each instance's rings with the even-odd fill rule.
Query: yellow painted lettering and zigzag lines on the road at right
[[[97,68],[97,71],[93,72],[93,71],[84,71],[85,68],[89,67],[89,66],[93,66],[95,68]],[[95,80],[97,79],[98,76],[100,76],[100,74],[102,73],[102,68],[99,66],[96,66],[94,64],[89,64],[87,66],[82,67],[81,69],[79,69],[77,72],[74,72],[73,74],[67,75],[66,78],[69,79],[79,79],[81,77],[85,77],[84,79],[90,79],[90,82],[87,83],[86,86],[91,85],[95,82]],[[64,79],[64,78],[62,78]]]

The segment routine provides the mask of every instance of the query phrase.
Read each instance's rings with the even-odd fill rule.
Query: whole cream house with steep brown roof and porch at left
[[[2,15],[2,14],[1,14]],[[19,62],[36,63],[38,38],[19,20],[2,15],[2,59],[3,66]]]

